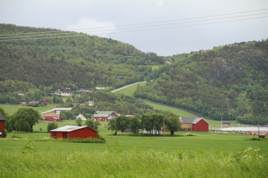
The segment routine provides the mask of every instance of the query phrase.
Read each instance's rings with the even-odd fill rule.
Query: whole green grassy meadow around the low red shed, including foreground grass
[[[268,141],[253,140],[252,135],[166,132],[164,137],[119,132],[115,136],[105,127],[107,122],[101,122],[99,134],[106,143],[71,143],[51,141],[47,124],[35,125],[35,133],[12,132],[0,139],[0,178],[260,178],[268,174]],[[64,125],[75,123],[59,123]]]

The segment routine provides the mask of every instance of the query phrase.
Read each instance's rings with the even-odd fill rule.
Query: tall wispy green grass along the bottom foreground
[[[1,178],[265,178],[267,152],[238,151],[106,151],[32,149],[2,151]]]

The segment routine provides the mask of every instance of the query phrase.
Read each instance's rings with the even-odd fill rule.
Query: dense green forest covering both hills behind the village
[[[16,41],[27,38],[31,40]],[[152,71],[150,65],[155,64],[161,67]],[[81,97],[75,94],[79,88],[119,88],[146,80],[146,86],[139,86],[134,93],[136,98],[186,108],[210,119],[222,117],[249,124],[257,124],[259,120],[265,125],[268,124],[267,69],[268,40],[158,56],[112,39],[0,24],[0,103],[53,99],[50,92],[64,86],[72,89],[72,99],[80,103],[98,100],[101,106],[97,104],[94,109],[142,114],[148,106],[136,106],[142,101],[135,98],[111,94],[115,98],[105,100],[97,95],[91,97],[92,93]],[[109,91],[103,93],[106,92]],[[128,100],[135,104],[123,104]],[[58,96],[54,101],[71,104],[69,99],[65,103]]]

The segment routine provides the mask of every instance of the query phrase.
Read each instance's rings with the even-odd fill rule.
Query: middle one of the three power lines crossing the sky
[[[239,16],[233,16],[233,17],[223,17],[223,18],[207,19],[207,20],[180,22],[180,23],[172,23],[172,24],[160,24],[160,25],[150,25],[150,26],[141,26],[141,27],[121,28],[121,29],[116,29],[116,30],[126,30],[126,29],[135,29],[135,28],[146,28],[146,27],[167,26],[167,25],[184,24],[184,23],[194,23],[194,22],[202,22],[202,21],[211,21],[211,20],[220,20],[220,19],[228,19],[228,18],[236,18],[236,17],[245,17],[245,16],[252,16],[252,15],[260,15],[260,14],[267,14],[267,13],[268,12],[257,13],[257,14],[248,14],[248,15],[239,15]],[[114,29],[112,29],[112,30],[114,30]],[[109,29],[109,30],[89,31],[89,32],[83,32],[83,33],[102,32],[102,31],[111,31],[111,29]],[[75,34],[75,33],[77,33],[77,32],[66,32],[66,33],[45,34],[45,35],[31,35],[31,36],[16,36],[16,37],[0,37],[0,39],[38,37],[38,36],[52,36],[52,35],[66,35],[66,34]]]

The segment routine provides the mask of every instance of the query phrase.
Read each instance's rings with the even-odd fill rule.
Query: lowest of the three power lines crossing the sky
[[[216,24],[216,23],[226,23],[226,22],[234,22],[234,21],[242,21],[242,20],[250,20],[250,19],[259,19],[259,18],[266,18],[266,17],[268,17],[268,16],[255,17],[255,18],[247,18],[247,19],[239,19],[239,20],[229,20],[229,21],[222,21],[222,22],[211,22],[211,23],[203,23],[203,24],[193,24],[193,25],[185,25],[185,26],[177,26],[177,27],[154,28],[154,29],[134,30],[134,31],[125,31],[125,32],[99,33],[99,34],[92,34],[92,35],[104,35],[104,34],[116,34],[116,33],[138,32],[138,31],[149,31],[149,30],[161,30],[161,29],[170,29],[170,28],[181,28],[181,27],[208,25],[208,24]],[[70,36],[59,36],[59,37],[16,39],[16,40],[0,40],[0,42],[5,42],[5,41],[21,41],[21,40],[37,40],[37,39],[52,39],[52,38],[78,37],[78,36],[88,36],[88,34],[83,34],[83,35],[70,35]]]

